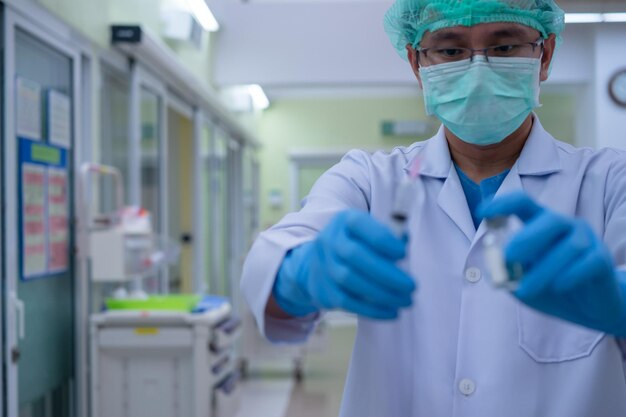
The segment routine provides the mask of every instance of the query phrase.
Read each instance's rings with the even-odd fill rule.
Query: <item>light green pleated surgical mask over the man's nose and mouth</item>
[[[489,58],[420,68],[426,112],[461,140],[502,142],[539,107],[541,59]]]

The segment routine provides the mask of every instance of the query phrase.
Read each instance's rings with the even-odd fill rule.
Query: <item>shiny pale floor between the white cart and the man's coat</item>
[[[326,331],[325,347],[305,357],[302,382],[295,383],[288,373],[246,380],[237,417],[337,417],[356,328],[329,326]]]

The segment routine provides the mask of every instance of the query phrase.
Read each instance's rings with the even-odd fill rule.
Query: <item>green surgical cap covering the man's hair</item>
[[[404,59],[406,45],[417,48],[424,33],[453,26],[509,22],[530,26],[557,45],[565,13],[554,0],[396,0],[385,14],[385,31]]]

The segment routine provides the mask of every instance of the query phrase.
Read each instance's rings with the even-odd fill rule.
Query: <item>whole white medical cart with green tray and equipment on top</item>
[[[147,294],[143,280],[176,262],[178,248],[153,232],[150,213],[124,206],[119,170],[84,164],[81,176],[92,306],[104,307],[89,317],[91,417],[233,417],[241,329],[229,300]],[[113,212],[91,214],[93,176],[113,179]]]

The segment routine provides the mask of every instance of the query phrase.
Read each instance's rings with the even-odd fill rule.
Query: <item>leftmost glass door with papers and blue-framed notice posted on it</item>
[[[5,377],[8,414],[23,417],[72,416],[75,401],[80,59],[44,23],[5,10]]]

